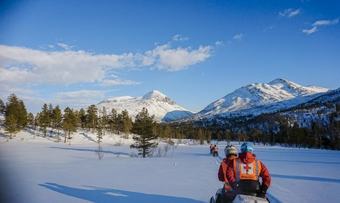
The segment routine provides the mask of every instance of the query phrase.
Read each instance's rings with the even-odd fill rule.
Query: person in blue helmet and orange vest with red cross
[[[239,157],[228,167],[227,179],[237,193],[261,197],[265,197],[271,182],[267,167],[256,159],[253,148],[247,143],[242,144]]]

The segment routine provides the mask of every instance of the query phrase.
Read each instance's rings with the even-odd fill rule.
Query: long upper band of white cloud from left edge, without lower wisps
[[[95,54],[86,51],[42,51],[0,45],[0,81],[31,84],[75,84],[103,81],[110,70],[157,67],[179,71],[205,61],[212,47],[156,46],[144,53]],[[132,83],[131,83],[132,84]]]

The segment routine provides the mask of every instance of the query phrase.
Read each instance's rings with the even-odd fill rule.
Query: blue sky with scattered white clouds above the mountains
[[[199,111],[254,82],[340,87],[338,1],[1,1],[0,98],[87,106],[157,89]]]

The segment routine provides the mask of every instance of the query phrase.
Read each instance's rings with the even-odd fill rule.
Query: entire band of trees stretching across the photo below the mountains
[[[336,104],[334,109],[329,114],[327,126],[312,122],[308,128],[291,124],[288,119],[271,114],[263,114],[254,120],[228,120],[222,125],[216,121],[209,124],[202,121],[157,123],[147,109],[142,109],[133,121],[127,110],[118,113],[112,109],[108,112],[95,105],[79,110],[66,107],[62,111],[58,105],[44,104],[41,111],[34,116],[27,112],[24,102],[14,94],[8,97],[6,104],[0,99],[0,113],[5,115],[4,126],[10,138],[25,127],[38,129],[45,137],[52,132],[57,132],[58,135],[63,132],[64,142],[72,139],[72,134],[77,129],[96,133],[97,142],[101,142],[106,132],[121,134],[126,138],[134,133],[139,136],[133,137],[135,144],[131,147],[137,148],[141,156],[151,154],[152,149],[157,146],[154,141],[157,138],[167,140],[170,144],[173,144],[172,139],[193,139],[200,144],[210,143],[213,139],[340,149],[340,104]]]

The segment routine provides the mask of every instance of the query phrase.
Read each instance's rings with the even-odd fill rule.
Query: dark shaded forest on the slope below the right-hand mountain
[[[324,114],[323,119],[304,120],[307,125],[299,125],[294,119],[279,113],[262,114],[255,118],[217,118],[191,125],[205,126],[214,140],[340,150],[340,103],[329,104],[328,107],[332,111]]]

